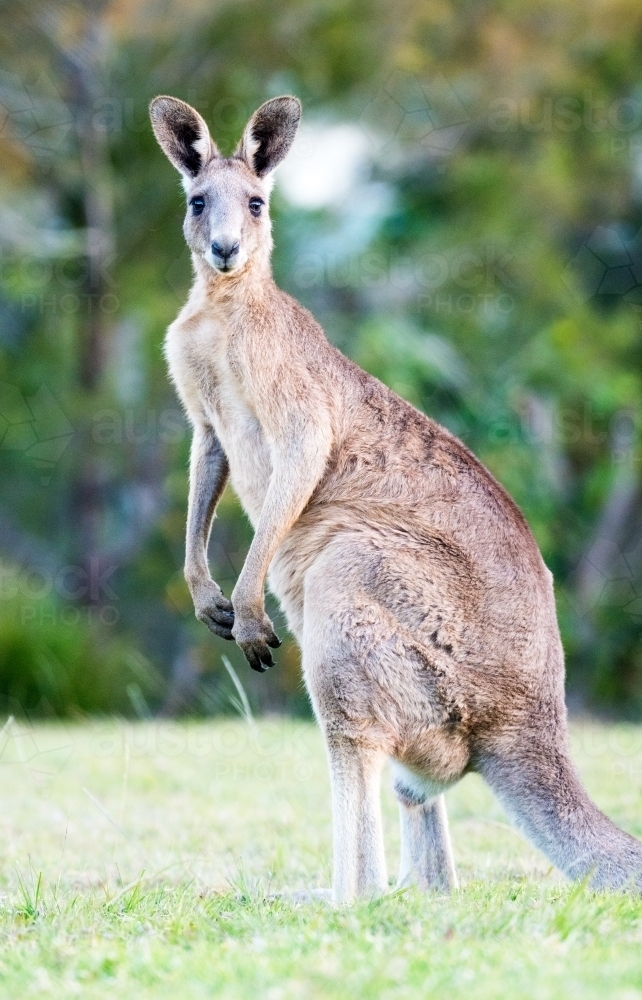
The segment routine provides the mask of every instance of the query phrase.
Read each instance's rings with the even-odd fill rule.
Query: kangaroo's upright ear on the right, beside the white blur
[[[285,158],[301,118],[298,97],[275,97],[255,111],[245,126],[235,156],[264,177]]]

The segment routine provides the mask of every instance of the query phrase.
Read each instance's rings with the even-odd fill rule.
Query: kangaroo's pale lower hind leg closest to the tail
[[[399,802],[401,858],[397,887],[417,885],[424,891],[457,888],[448,815],[443,795],[430,795],[405,767],[392,762]]]

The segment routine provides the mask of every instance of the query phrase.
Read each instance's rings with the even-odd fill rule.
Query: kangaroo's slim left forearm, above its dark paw
[[[185,543],[185,578],[195,583],[209,577],[207,543],[216,505],[229,475],[227,456],[214,431],[196,426],[190,453],[190,487]]]

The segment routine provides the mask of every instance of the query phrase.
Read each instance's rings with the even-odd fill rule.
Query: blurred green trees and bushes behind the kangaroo
[[[512,493],[555,574],[571,707],[639,719],[639,4],[2,7],[2,706],[244,711],[236,669],[254,710],[309,711],[293,641],[254,675],[183,582],[189,433],[162,341],[190,263],[147,117],[181,97],[230,152],[289,92],[278,282]],[[228,595],[250,538],[228,490]]]

